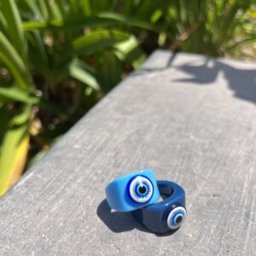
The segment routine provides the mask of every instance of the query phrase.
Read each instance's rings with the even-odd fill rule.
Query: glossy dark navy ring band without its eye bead
[[[132,216],[148,230],[163,234],[171,230],[167,225],[170,212],[176,207],[183,207],[186,211],[185,191],[177,183],[169,181],[157,181],[157,185],[160,195],[165,195],[167,198],[132,212]],[[177,212],[176,215],[179,213],[181,212]]]

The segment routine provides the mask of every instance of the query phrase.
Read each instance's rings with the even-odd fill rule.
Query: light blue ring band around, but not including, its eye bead
[[[148,201],[137,202],[134,201],[130,195],[130,184],[137,176],[147,178],[152,185],[152,195]],[[130,212],[142,207],[147,207],[148,205],[157,201],[160,197],[159,189],[154,177],[154,172],[150,169],[130,173],[113,180],[113,182],[108,184],[105,192],[109,207],[119,212]]]

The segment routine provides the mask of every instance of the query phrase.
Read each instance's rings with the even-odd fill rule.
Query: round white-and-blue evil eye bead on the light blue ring
[[[153,193],[153,184],[147,177],[137,176],[131,180],[129,194],[133,201],[145,203],[151,199]]]

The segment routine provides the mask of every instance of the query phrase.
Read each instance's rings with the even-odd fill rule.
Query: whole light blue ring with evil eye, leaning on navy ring
[[[119,212],[146,207],[160,198],[154,172],[149,169],[113,180],[105,192],[109,207]]]

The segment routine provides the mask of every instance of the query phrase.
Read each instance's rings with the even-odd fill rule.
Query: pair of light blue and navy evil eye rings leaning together
[[[139,223],[154,233],[176,230],[186,218],[183,188],[170,181],[156,181],[152,170],[113,180],[106,188],[106,195],[109,207],[131,212]]]

